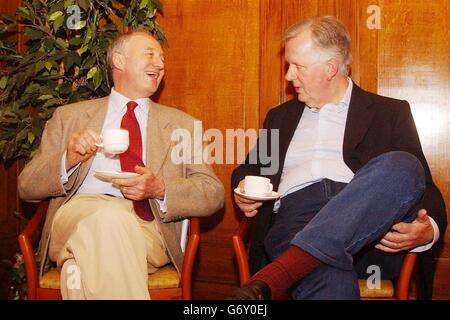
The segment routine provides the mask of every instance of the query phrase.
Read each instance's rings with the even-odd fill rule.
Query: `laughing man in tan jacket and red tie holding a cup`
[[[120,35],[108,63],[111,94],[58,108],[19,176],[22,199],[50,198],[40,274],[48,257],[56,261],[65,299],[148,299],[148,273],[169,262],[181,270],[181,220],[211,215],[224,202],[223,185],[210,166],[172,159],[173,132],[192,137],[195,119],[149,99],[164,76],[160,44],[142,30]],[[138,137],[142,153],[142,164],[132,166],[139,175],[100,180],[99,171],[123,169],[120,156],[97,145],[105,130],[123,128],[125,117],[140,129],[129,130],[129,150]],[[136,203],[150,205],[151,218],[142,218]],[[73,270],[80,275],[78,286],[68,283]]]

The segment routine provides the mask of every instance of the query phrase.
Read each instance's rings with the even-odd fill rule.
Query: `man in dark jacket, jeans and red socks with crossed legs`
[[[368,276],[368,266],[392,279],[408,251],[421,252],[424,278],[432,280],[446,212],[408,103],[352,82],[350,37],[335,18],[301,21],[284,39],[286,79],[298,100],[271,110],[264,123],[279,130],[278,153],[268,153],[278,170],[266,176],[281,199],[235,194],[247,217],[257,215],[254,275],[235,298],[281,299],[289,292],[295,299],[358,299],[357,279]],[[252,153],[233,172],[233,189],[273,166],[252,163],[258,148]],[[428,297],[431,285],[422,286]]]

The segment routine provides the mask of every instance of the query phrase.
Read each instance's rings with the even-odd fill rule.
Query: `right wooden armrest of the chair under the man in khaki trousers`
[[[195,257],[197,256],[197,249],[200,243],[200,219],[191,217],[190,220],[189,240],[181,270],[181,294],[183,300],[191,300],[192,269],[194,268]]]

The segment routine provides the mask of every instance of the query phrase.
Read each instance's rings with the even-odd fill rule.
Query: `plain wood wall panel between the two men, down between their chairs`
[[[159,21],[169,46],[159,101],[201,119],[205,130],[258,128],[259,6],[247,0],[165,2]],[[237,213],[229,182],[234,167],[214,165],[227,198],[224,210],[202,219],[194,298],[226,297],[237,284],[231,247]]]

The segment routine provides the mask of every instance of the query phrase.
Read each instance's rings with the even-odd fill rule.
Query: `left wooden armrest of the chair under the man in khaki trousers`
[[[31,239],[35,238],[41,232],[45,221],[48,202],[41,202],[36,213],[27,223],[25,228],[18,236],[20,251],[23,255],[25,264],[25,273],[27,277],[28,299],[36,299],[36,290],[39,283],[39,277],[36,266],[36,257]]]

